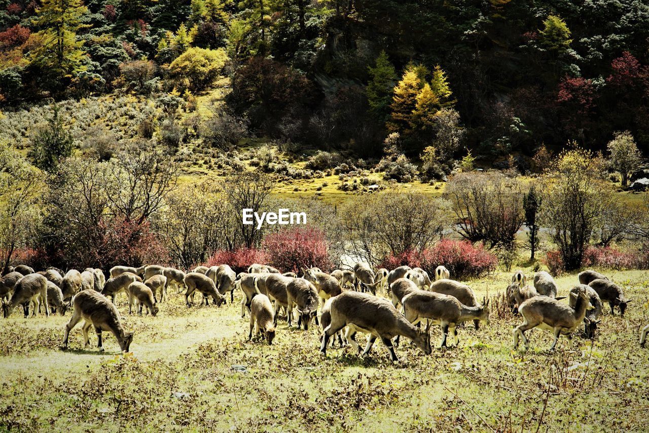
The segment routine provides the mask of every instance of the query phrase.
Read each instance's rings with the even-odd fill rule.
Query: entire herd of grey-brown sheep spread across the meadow
[[[198,266],[187,274],[164,266],[115,266],[110,278],[105,279],[101,269],[87,268],[83,272],[57,268],[35,272],[29,266],[11,268],[0,278],[0,299],[3,315],[8,318],[16,307],[23,307],[25,318],[44,310],[66,314],[73,309],[66,325],[62,348],[67,348],[69,332],[84,321],[84,344],[89,345],[88,330],[93,327],[98,347],[102,347],[102,331],[113,333],[122,351],[129,351],[133,334],[127,333],[115,307],[116,296],[124,293],[129,300],[129,313],[135,306],[152,316],[158,314],[158,301],[164,302],[167,291],[185,290],[188,307],[193,304],[196,292],[202,294],[201,303],[225,303],[230,292],[241,290],[241,317],[249,312],[251,320],[249,339],[261,335],[268,344],[273,343],[278,313],[284,309],[288,324],[297,319],[297,327],[308,329],[312,319],[322,327],[321,352],[337,341],[352,345],[357,353],[367,356],[376,338],[386,345],[392,360],[397,360],[393,344],[400,336],[410,339],[422,352],[431,353],[430,325],[442,329],[441,346],[447,346],[450,335],[452,345],[459,344],[457,327],[473,322],[489,323],[489,299],[478,301],[471,287],[450,279],[444,266],[435,270],[434,281],[421,268],[399,266],[388,271],[374,272],[357,263],[353,270],[334,270],[330,274],[319,268],[302,269],[302,276],[294,272],[280,273],[264,264],[252,264],[247,272],[236,274],[227,264]],[[522,316],[523,323],[513,331],[513,346],[521,339],[528,349],[525,331],[532,328],[547,329],[554,334],[553,350],[559,336],[572,340],[571,334],[583,323],[585,336],[593,338],[601,321],[603,301],[609,304],[611,314],[617,307],[620,314],[631,299],[627,299],[617,284],[593,270],[579,274],[579,283],[570,292],[569,302],[557,298],[557,285],[547,272],[537,272],[530,285],[526,275],[517,271],[511,278],[506,293],[509,308]],[[389,299],[376,296],[384,290]],[[398,309],[400,305],[400,308]],[[317,314],[319,311],[319,315]],[[421,329],[421,325],[426,325]],[[361,351],[356,343],[357,333],[369,334],[367,345]],[[641,331],[640,344],[644,347],[649,325]],[[332,336],[334,337],[332,339]]]

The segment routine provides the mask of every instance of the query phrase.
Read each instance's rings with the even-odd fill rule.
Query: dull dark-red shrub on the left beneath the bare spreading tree
[[[105,226],[104,237],[97,248],[99,263],[104,269],[117,264],[142,266],[167,264],[169,251],[149,222],[112,221]]]

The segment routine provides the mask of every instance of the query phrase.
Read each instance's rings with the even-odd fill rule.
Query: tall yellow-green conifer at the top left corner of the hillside
[[[43,0],[33,23],[41,44],[31,53],[32,64],[53,78],[71,78],[86,69],[82,41],[77,31],[84,27],[81,18],[88,8],[81,0]],[[60,83],[56,83],[60,86]]]

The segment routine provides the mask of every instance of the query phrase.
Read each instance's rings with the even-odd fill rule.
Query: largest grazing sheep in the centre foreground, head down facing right
[[[390,358],[398,361],[392,339],[403,335],[415,343],[426,355],[430,355],[429,329],[421,332],[411,325],[387,299],[377,298],[366,293],[344,292],[333,298],[330,306],[331,323],[324,329],[320,351],[326,355],[329,338],[347,325],[356,331],[371,334],[363,357],[367,356],[376,338],[380,338],[390,352]]]

